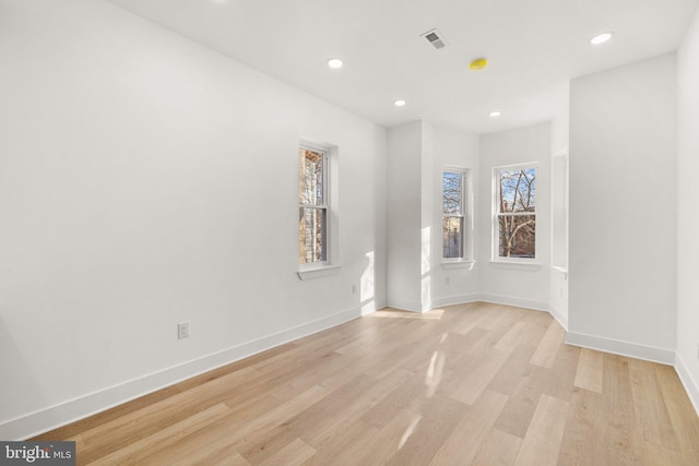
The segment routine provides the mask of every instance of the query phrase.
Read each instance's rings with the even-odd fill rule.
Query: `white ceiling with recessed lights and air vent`
[[[109,1],[379,124],[487,133],[550,119],[571,77],[676,50],[698,0]]]

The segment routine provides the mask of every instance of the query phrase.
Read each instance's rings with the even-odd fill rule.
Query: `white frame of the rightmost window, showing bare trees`
[[[501,258],[499,254],[500,249],[500,228],[499,228],[499,217],[501,215],[512,215],[509,214],[500,214],[500,172],[501,171],[512,171],[512,170],[525,170],[533,168],[536,172],[536,188],[538,190],[538,162],[530,162],[524,164],[513,164],[513,165],[502,165],[499,167],[493,167],[493,219],[491,219],[491,230],[493,230],[493,251],[490,262],[494,265],[512,265],[528,268],[529,266],[540,267],[541,263],[538,262],[538,254],[541,251],[540,237],[537,232],[535,232],[534,237],[534,256],[533,258]],[[536,199],[534,203],[534,212],[521,212],[514,213],[516,216],[525,216],[533,215],[536,218],[537,227],[538,227],[538,199]],[[535,230],[537,231],[537,230]]]

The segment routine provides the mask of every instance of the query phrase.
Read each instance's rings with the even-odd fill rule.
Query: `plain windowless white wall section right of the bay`
[[[673,55],[570,88],[568,340],[673,362],[676,81]]]

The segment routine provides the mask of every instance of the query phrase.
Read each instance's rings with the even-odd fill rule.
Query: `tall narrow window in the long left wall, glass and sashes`
[[[298,150],[298,262],[328,260],[328,154]]]

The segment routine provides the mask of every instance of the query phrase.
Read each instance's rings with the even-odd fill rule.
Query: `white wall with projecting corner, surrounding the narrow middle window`
[[[479,299],[477,267],[441,266],[441,174],[465,168],[477,187],[478,138],[416,121],[389,130],[388,153],[389,306],[424,312]]]

